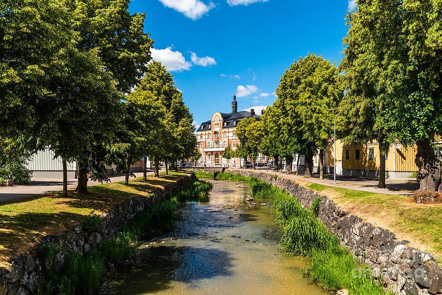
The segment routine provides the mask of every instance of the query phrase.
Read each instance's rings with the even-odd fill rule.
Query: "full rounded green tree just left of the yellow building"
[[[324,148],[333,134],[334,110],[343,96],[338,70],[321,56],[308,54],[295,61],[276,89],[280,154],[291,173],[294,154],[305,155],[305,177],[311,176],[312,157],[319,149],[320,179],[324,173]],[[282,123],[282,124],[281,124]]]

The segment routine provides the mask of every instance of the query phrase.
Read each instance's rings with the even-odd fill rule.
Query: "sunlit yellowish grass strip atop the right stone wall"
[[[309,188],[330,197],[339,207],[411,241],[442,262],[442,205],[423,205],[413,198],[376,194],[312,183]]]

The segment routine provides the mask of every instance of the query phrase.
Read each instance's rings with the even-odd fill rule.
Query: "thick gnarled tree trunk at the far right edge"
[[[414,162],[417,168],[419,191],[442,192],[442,162],[434,156],[434,148],[430,140],[416,142],[417,154]]]

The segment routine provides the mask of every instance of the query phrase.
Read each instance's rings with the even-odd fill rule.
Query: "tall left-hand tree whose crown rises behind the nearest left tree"
[[[76,1],[75,4],[73,28],[80,36],[78,48],[96,51],[104,65],[103,69],[115,79],[116,89],[120,93],[129,92],[138,83],[150,61],[153,40],[143,32],[145,14],[131,15],[128,11],[129,0],[88,0]],[[109,111],[107,113],[112,117],[118,116]],[[103,114],[102,117],[107,116]],[[111,128],[109,124],[109,135]],[[104,143],[109,140],[111,138],[106,138]],[[90,152],[89,158],[93,154]],[[102,162],[104,158],[100,157],[97,161]],[[89,170],[94,177],[105,178],[103,169],[94,169],[93,165],[87,167],[83,160],[78,163],[80,174],[77,191],[87,191],[87,176],[82,173],[82,166],[86,166],[84,172]]]

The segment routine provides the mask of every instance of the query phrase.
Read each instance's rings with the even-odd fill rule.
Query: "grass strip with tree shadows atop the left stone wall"
[[[124,182],[89,186],[90,194],[69,190],[67,198],[54,192],[0,203],[0,266],[29,251],[43,236],[62,234],[82,223],[92,211],[103,214],[131,197],[147,196],[186,175],[189,174],[169,171],[168,176],[148,176],[147,181],[136,178],[128,186]]]

